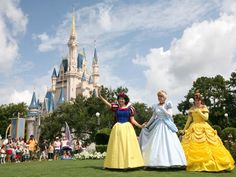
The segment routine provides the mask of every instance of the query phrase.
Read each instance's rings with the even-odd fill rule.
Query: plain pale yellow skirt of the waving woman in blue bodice
[[[112,128],[105,168],[126,169],[144,166],[142,154],[133,126],[129,123],[116,123]]]

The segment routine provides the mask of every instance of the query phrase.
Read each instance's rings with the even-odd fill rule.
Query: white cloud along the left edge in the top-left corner
[[[7,73],[19,57],[17,36],[26,30],[27,17],[19,1],[0,0],[0,73]]]

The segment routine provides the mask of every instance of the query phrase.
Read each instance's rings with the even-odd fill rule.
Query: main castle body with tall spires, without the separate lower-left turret
[[[71,101],[77,95],[96,95],[99,87],[99,66],[96,48],[92,61],[92,72],[87,69],[85,51],[78,53],[75,17],[72,18],[71,34],[68,41],[68,57],[61,62],[58,73],[54,68],[51,76],[51,89],[48,90],[44,109],[51,112],[58,104]]]

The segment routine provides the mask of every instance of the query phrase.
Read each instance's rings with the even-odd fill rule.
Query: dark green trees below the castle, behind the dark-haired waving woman
[[[117,94],[128,92],[127,88],[108,89],[102,86],[101,94],[110,102],[116,102]],[[137,114],[135,118],[140,123],[150,118],[151,111],[143,103],[134,103]],[[100,116],[96,116],[99,112]],[[85,135],[90,135],[86,141],[94,141],[96,132],[102,128],[111,128],[115,122],[114,113],[98,97],[85,98],[77,96],[73,102],[65,102],[53,113],[43,117],[41,124],[41,138],[53,140],[55,136],[60,136],[61,128],[65,121],[69,127],[75,129],[75,134],[81,139]],[[49,131],[50,130],[50,131]],[[137,131],[138,132],[138,131]]]

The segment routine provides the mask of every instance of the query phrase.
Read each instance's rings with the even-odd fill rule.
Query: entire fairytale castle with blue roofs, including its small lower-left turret
[[[48,89],[43,102],[36,99],[33,93],[29,106],[27,122],[27,135],[40,134],[40,115],[53,112],[59,104],[73,101],[77,95],[96,96],[99,88],[99,66],[96,48],[92,59],[92,69],[87,69],[85,51],[78,53],[78,42],[75,28],[75,17],[72,17],[71,32],[68,41],[68,57],[63,58],[59,71],[53,69],[51,88]]]

